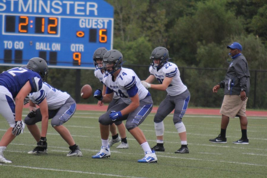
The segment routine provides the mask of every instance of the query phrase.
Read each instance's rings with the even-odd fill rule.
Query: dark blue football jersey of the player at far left
[[[42,88],[42,79],[34,71],[16,67],[0,74],[0,85],[6,87],[13,98],[16,98],[20,89],[28,81],[31,84],[31,93],[37,92]]]

